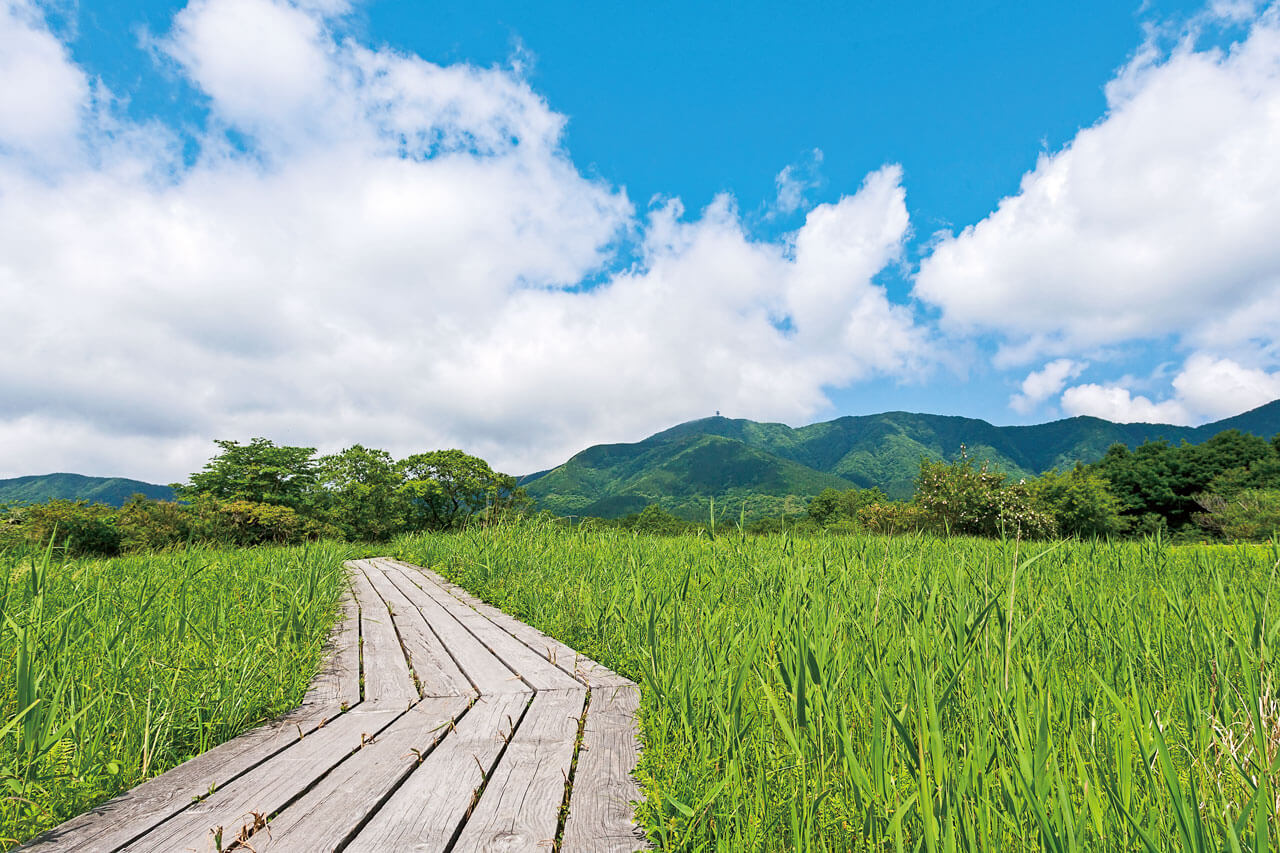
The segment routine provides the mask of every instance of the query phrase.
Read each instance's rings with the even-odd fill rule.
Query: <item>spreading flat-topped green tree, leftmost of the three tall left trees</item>
[[[265,438],[248,444],[215,441],[221,452],[189,484],[174,484],[178,497],[271,503],[303,508],[316,494],[315,448],[276,446]]]

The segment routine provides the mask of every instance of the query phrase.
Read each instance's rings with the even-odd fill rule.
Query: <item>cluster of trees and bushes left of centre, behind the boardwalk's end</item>
[[[458,450],[397,461],[360,444],[320,457],[265,438],[218,446],[189,483],[174,484],[178,501],[136,494],[119,508],[59,500],[0,507],[0,548],[54,543],[72,555],[115,556],[188,543],[380,542],[529,505],[515,478]]]

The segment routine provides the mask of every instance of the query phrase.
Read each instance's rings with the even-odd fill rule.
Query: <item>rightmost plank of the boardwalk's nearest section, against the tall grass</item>
[[[635,825],[640,786],[632,772],[640,757],[636,710],[640,688],[591,690],[562,853],[632,853],[648,849]]]

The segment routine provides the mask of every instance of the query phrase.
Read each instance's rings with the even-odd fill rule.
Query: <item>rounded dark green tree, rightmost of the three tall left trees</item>
[[[516,478],[460,450],[415,453],[399,462],[403,501],[411,530],[451,530],[479,514],[499,514],[527,506]]]

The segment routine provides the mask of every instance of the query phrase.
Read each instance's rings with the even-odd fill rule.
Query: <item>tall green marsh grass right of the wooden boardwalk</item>
[[[398,540],[643,684],[639,818],[672,850],[1268,850],[1272,547]]]

